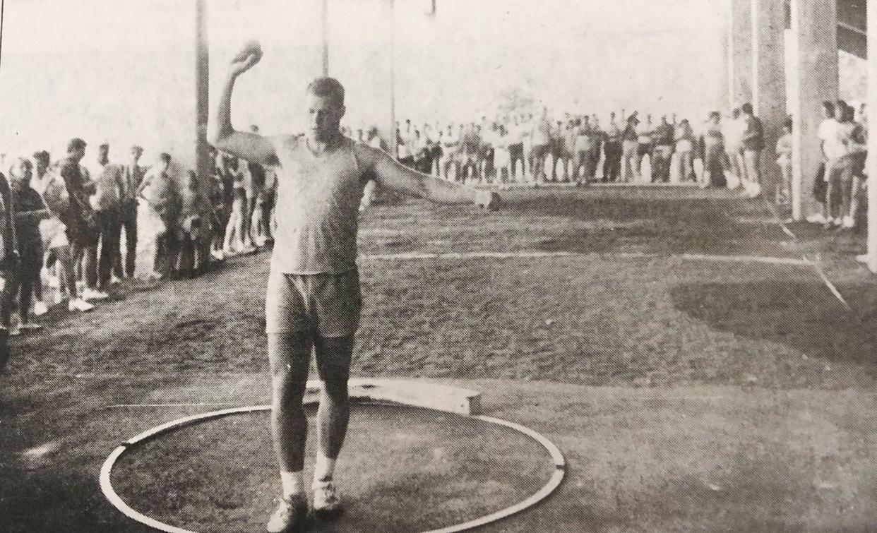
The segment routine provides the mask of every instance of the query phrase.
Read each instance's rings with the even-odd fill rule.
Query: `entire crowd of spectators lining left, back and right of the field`
[[[825,102],[819,127],[822,163],[813,195],[821,210],[809,222],[826,229],[864,224],[867,119],[864,104]],[[258,131],[256,126],[251,126]],[[548,183],[676,183],[741,188],[780,206],[791,202],[792,130],[776,143],[779,179],[766,182],[764,126],[745,103],[727,117],[709,113],[698,131],[676,116],[653,121],[638,112],[596,115],[547,109],[467,124],[396,124],[392,152],[403,165],[451,181],[510,187]],[[344,133],[391,151],[377,128]],[[40,150],[0,173],[0,260],[4,290],[0,335],[38,330],[32,316],[66,301],[85,312],[125,278],[193,277],[216,261],[273,244],[277,180],[261,167],[210,148],[209,183],[168,153],[141,163],[143,148],[112,162],[110,146],[71,139],[65,157]],[[5,167],[5,165],[4,165]],[[769,170],[769,169],[768,169]],[[374,198],[370,182],[365,209]],[[124,243],[124,245],[123,245]],[[18,313],[14,311],[18,309]],[[17,315],[17,319],[16,319]]]

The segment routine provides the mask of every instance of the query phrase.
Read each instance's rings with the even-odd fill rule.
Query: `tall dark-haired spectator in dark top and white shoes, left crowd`
[[[96,248],[100,240],[100,230],[95,211],[89,202],[89,196],[95,192],[95,184],[86,180],[80,164],[85,157],[86,146],[82,139],[70,139],[68,155],[61,160],[59,167],[69,198],[68,210],[61,222],[67,226],[74,263],[82,264],[82,277],[85,280],[82,300],[89,301],[103,300],[107,298],[107,294],[97,290]]]

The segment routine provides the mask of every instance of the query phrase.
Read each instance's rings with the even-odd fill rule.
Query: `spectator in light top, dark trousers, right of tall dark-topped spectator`
[[[122,232],[119,212],[125,190],[122,167],[110,163],[110,145],[98,146],[97,160],[91,166],[90,173],[95,183],[95,194],[90,202],[100,233],[100,252],[96,258],[97,288],[106,291],[111,281],[116,281],[112,280],[112,266],[118,256]],[[95,249],[93,253],[98,253],[98,250]]]

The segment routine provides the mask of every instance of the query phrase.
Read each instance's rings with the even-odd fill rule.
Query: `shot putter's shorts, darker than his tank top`
[[[360,327],[360,275],[282,274],[268,276],[265,331],[314,331],[323,338],[353,335]]]

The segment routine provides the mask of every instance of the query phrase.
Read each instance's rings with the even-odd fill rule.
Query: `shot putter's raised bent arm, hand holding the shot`
[[[236,131],[232,127],[232,92],[234,82],[262,58],[258,41],[250,41],[241,48],[229,66],[222,92],[219,94],[210,144],[222,152],[232,153],[239,158],[261,165],[275,165],[277,156],[271,141],[247,131]]]

